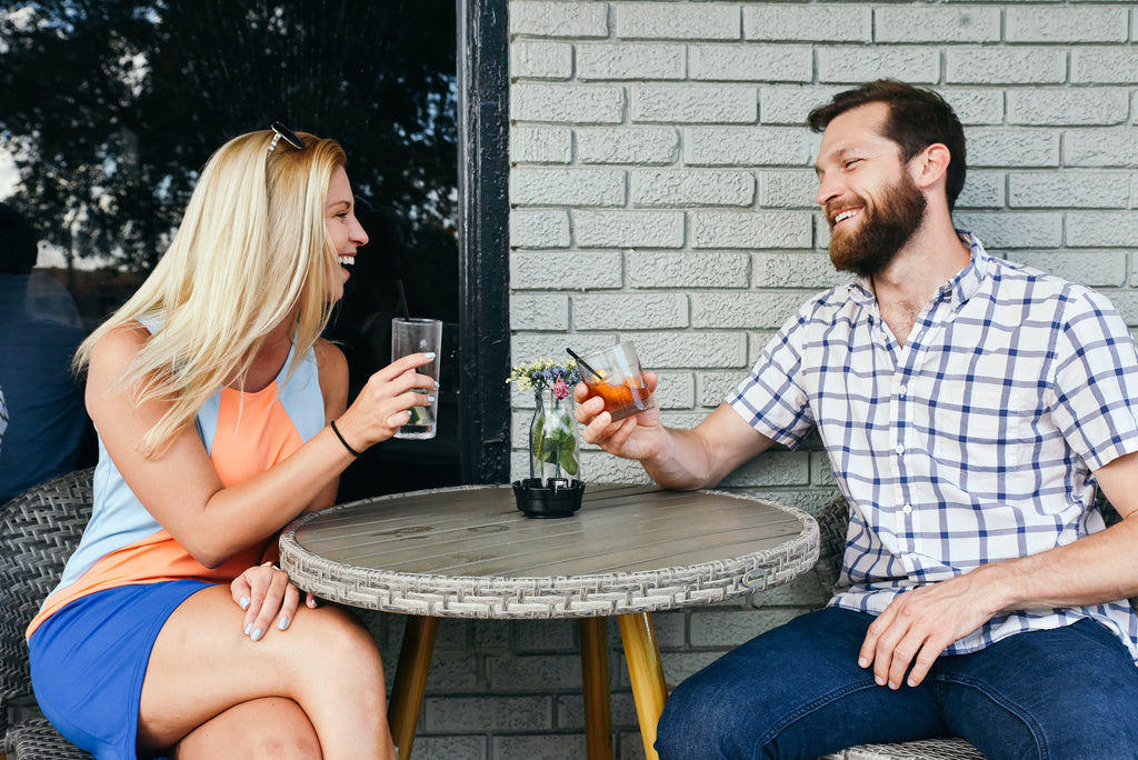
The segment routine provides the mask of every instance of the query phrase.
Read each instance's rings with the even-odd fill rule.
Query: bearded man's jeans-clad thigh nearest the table
[[[873,618],[828,608],[728,652],[676,687],[658,729],[671,758],[817,758],[943,735],[932,687],[892,691],[857,664]]]

